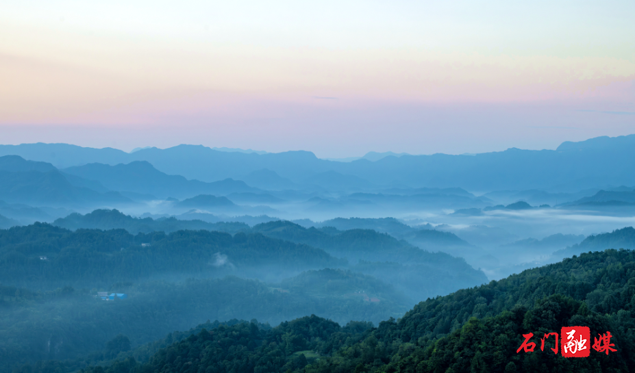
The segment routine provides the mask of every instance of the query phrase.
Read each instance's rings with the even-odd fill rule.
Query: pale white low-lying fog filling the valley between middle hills
[[[241,221],[250,226],[277,219],[295,221],[304,227],[323,227],[328,224],[328,220],[335,218],[397,218],[415,230],[434,229],[460,237],[471,247],[456,250],[445,247],[443,243],[426,244],[410,237],[399,237],[399,233],[396,232],[386,231],[420,248],[464,257],[474,268],[482,269],[490,280],[501,279],[525,268],[560,260],[562,258],[552,257],[551,254],[582,242],[588,235],[635,225],[635,209],[619,207],[589,209],[561,205],[557,208],[533,206],[525,209],[501,208],[486,211],[487,207],[469,207],[472,204],[463,209],[425,209],[416,206],[397,209],[394,205],[358,203],[357,208],[351,209],[348,207],[351,205],[351,198],[347,198],[347,208],[343,211],[338,206],[341,199],[342,197],[314,196],[303,201],[276,201],[268,205],[245,204],[241,205],[242,210],[238,214],[222,207],[179,208],[175,206],[174,201],[165,200],[147,201],[134,207],[120,207],[120,210],[132,216],[155,219],[175,216],[182,220],[199,219],[208,222]],[[553,235],[564,237],[560,237],[560,240],[558,237],[549,239]],[[530,245],[524,242],[532,239],[538,243]]]

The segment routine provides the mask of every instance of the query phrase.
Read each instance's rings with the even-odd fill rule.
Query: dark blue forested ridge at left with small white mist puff
[[[35,289],[90,288],[171,274],[282,276],[343,263],[319,248],[260,234],[132,235],[123,229],[69,231],[42,223],[0,230],[0,282]],[[272,272],[271,266],[278,270]]]

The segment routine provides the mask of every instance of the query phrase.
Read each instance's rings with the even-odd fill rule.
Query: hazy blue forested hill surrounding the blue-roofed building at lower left
[[[0,361],[5,364],[0,369],[8,372],[29,360],[76,359],[102,350],[118,334],[138,346],[208,319],[279,324],[315,313],[342,323],[377,323],[412,306],[390,285],[343,270],[303,272],[279,284],[227,276],[114,283],[97,290],[128,298],[106,302],[94,297],[95,290],[32,292],[0,285]]]

